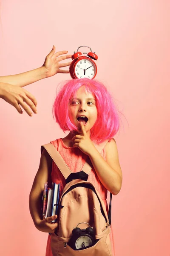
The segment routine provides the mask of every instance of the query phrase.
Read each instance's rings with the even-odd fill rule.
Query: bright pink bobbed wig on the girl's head
[[[112,96],[101,82],[87,78],[65,81],[55,99],[53,115],[63,131],[77,131],[69,118],[69,102],[81,86],[92,93],[96,100],[97,120],[90,131],[91,140],[102,143],[117,133],[120,122]]]

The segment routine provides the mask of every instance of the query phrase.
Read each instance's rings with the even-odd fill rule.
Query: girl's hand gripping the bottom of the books
[[[57,222],[53,223],[51,221],[54,221],[55,219],[57,219],[57,215],[45,218],[39,221],[37,224],[35,224],[35,226],[37,227],[38,230],[42,232],[54,233],[58,226],[58,223]]]

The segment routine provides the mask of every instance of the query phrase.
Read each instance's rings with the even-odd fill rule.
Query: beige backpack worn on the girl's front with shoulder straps
[[[99,152],[105,144],[95,145]],[[107,214],[94,185],[88,182],[92,163],[88,162],[81,172],[71,173],[67,164],[51,143],[43,145],[54,160],[66,186],[59,201],[58,227],[51,234],[53,256],[112,256],[111,252],[111,199]],[[112,195],[111,195],[112,196]]]

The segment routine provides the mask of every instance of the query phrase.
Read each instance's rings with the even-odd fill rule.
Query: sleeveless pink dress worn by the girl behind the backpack
[[[74,148],[74,147],[67,147],[62,139],[57,139],[54,141],[51,141],[51,144],[54,145],[54,147],[57,149],[59,154],[61,154],[62,158],[65,160],[65,163],[68,165],[69,169],[71,172],[80,172],[82,170],[82,167],[86,161],[86,158],[88,157],[86,154],[84,154],[79,148]],[[106,160],[106,153],[105,153],[105,148],[101,152],[102,157]],[[51,179],[52,182],[54,183],[60,183],[60,190],[59,190],[59,198],[62,194],[62,191],[65,186],[65,178],[59,171],[58,167],[52,162],[52,172],[51,172]],[[96,172],[94,168],[91,169],[91,172],[88,176],[88,181],[94,184],[95,188],[99,192],[102,200],[105,203],[106,209],[108,211],[108,204],[106,201],[107,198],[107,189],[102,185],[100,182],[98,176],[96,175]],[[112,253],[113,256],[115,256],[115,251],[114,251],[114,241],[113,241],[113,227],[111,225],[111,233],[110,233],[110,238],[111,238],[111,243],[112,243]],[[45,256],[53,256],[51,252],[51,236],[48,236],[48,241],[47,241],[47,248],[46,248],[46,254]]]

